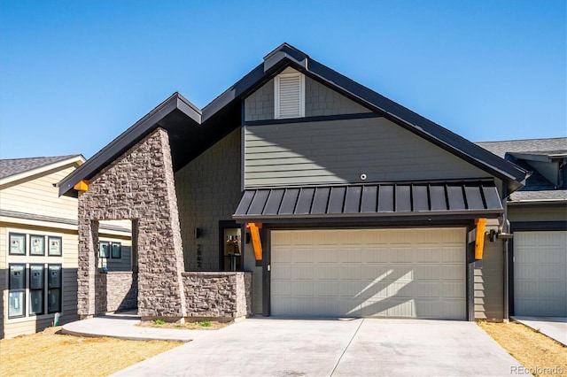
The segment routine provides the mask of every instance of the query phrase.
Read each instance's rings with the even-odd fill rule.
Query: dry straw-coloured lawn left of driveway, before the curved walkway
[[[103,376],[183,344],[82,338],[58,329],[0,340],[0,375]]]

